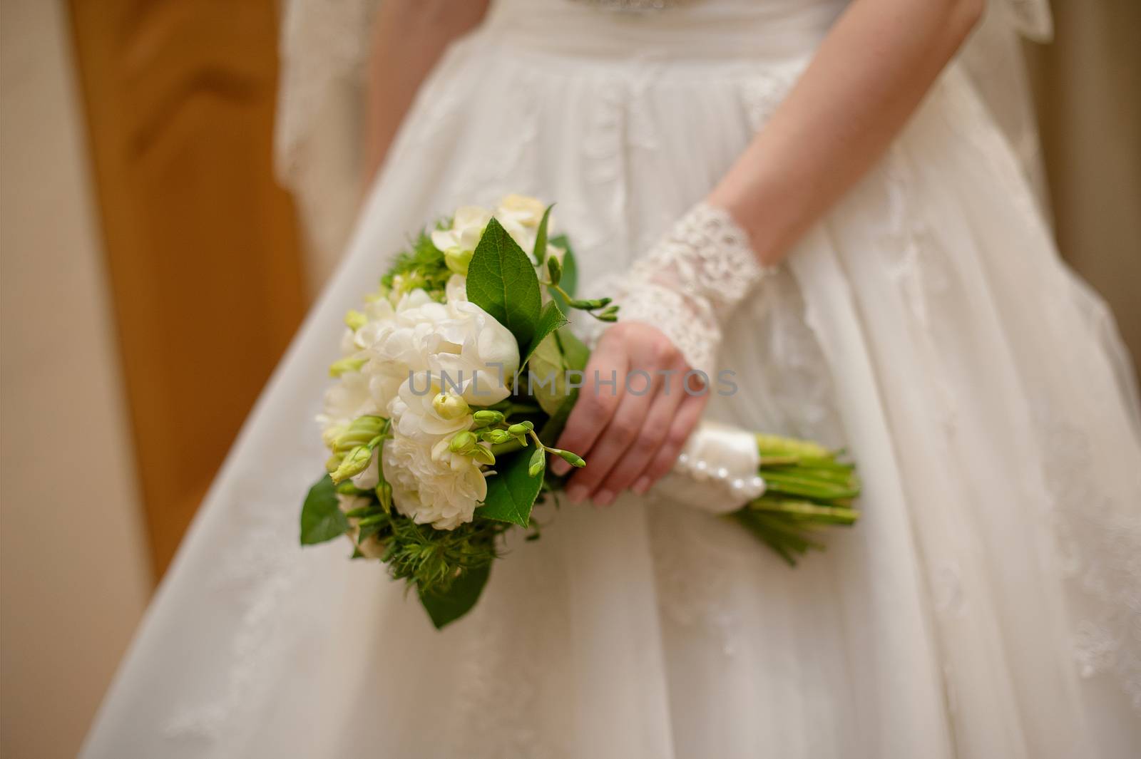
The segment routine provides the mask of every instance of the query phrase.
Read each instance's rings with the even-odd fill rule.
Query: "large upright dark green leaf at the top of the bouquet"
[[[535,269],[503,226],[492,219],[468,264],[468,300],[531,345],[542,297]]]

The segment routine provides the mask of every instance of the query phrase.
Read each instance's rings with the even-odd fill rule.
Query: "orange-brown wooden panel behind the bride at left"
[[[276,8],[70,5],[161,576],[304,309],[272,178]]]

